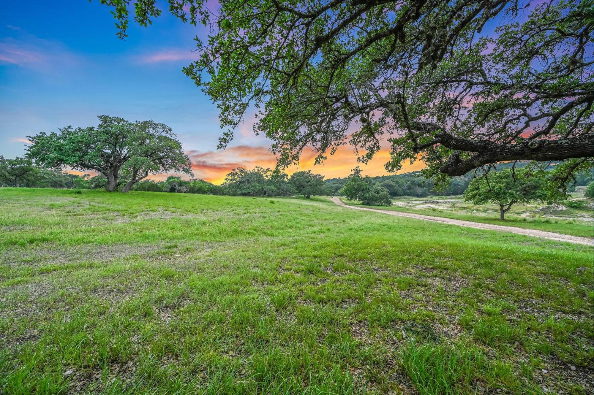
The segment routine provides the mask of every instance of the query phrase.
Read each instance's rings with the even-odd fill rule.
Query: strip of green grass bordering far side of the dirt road
[[[446,209],[415,209],[400,206],[365,206],[353,200],[342,198],[342,201],[351,206],[361,206],[369,208],[379,208],[391,211],[409,212],[413,214],[441,216],[444,218],[462,219],[464,221],[481,222],[482,224],[505,225],[509,227],[519,227],[525,229],[536,229],[546,232],[556,232],[579,237],[594,237],[594,226],[592,222],[580,221],[579,219],[555,219],[555,218],[527,218],[513,215],[513,212],[506,214],[505,219],[499,219],[499,214],[487,210],[484,213],[467,214],[466,212],[456,212]],[[582,210],[584,211],[584,210]],[[590,212],[591,214],[591,212]]]

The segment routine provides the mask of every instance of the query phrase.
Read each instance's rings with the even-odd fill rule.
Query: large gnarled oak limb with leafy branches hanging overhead
[[[125,34],[130,0],[102,2]],[[560,181],[592,167],[592,0],[168,3],[211,27],[184,72],[219,107],[222,147],[255,106],[281,166],[347,142],[366,162],[388,141],[388,170],[420,159],[440,180],[500,161],[570,161]],[[135,21],[159,17],[155,4],[135,2]]]

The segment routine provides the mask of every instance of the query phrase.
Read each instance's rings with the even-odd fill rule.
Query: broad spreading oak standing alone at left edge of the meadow
[[[60,133],[27,136],[33,143],[27,155],[36,164],[50,168],[95,170],[105,176],[113,191],[125,177],[122,192],[149,174],[191,173],[191,162],[167,125],[151,120],[128,122],[119,117],[99,116],[96,128],[59,129]]]

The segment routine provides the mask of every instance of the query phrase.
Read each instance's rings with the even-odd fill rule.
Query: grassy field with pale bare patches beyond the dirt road
[[[396,201],[400,202],[432,202],[432,199],[441,199],[445,201],[443,196],[435,198],[398,198]],[[413,214],[431,215],[431,216],[442,216],[444,218],[463,219],[464,221],[481,222],[482,224],[493,224],[493,225],[505,225],[510,227],[519,227],[525,229],[536,229],[547,232],[557,232],[561,234],[568,234],[579,237],[590,237],[594,238],[594,224],[592,221],[582,221],[577,218],[546,218],[545,216],[521,216],[525,212],[532,212],[542,206],[535,205],[516,205],[512,206],[512,210],[505,214],[505,219],[502,221],[499,218],[499,209],[494,205],[485,205],[475,207],[471,203],[460,203],[454,202],[451,208],[445,208],[445,203],[441,203],[443,208],[438,205],[431,208],[414,208],[392,205],[390,207],[378,207],[378,206],[365,206],[361,202],[354,200],[347,200],[346,198],[341,199],[345,204],[351,206],[361,206],[369,208],[380,208],[383,210],[393,210],[400,212],[410,212]],[[455,199],[450,199],[455,200]],[[424,206],[420,204],[419,206]],[[590,209],[567,209],[569,214],[575,215],[589,213],[592,214]]]

